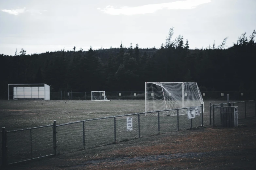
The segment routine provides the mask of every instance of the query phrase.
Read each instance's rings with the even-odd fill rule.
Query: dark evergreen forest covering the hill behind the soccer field
[[[51,92],[145,91],[146,81],[196,81],[201,91],[256,91],[255,34],[242,34],[229,48],[225,38],[220,45],[189,49],[182,35],[172,40],[171,28],[160,49],[122,43],[31,55],[22,49],[14,56],[0,54],[0,87],[7,92],[12,83],[46,83]]]

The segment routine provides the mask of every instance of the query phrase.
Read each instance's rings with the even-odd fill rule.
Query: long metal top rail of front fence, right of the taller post
[[[202,106],[192,106],[192,107],[202,107]],[[123,116],[139,115],[139,114],[145,114],[145,113],[156,113],[156,112],[164,112],[164,111],[172,111],[172,110],[181,110],[181,109],[188,109],[188,108],[191,108],[191,107],[178,108],[178,109],[169,109],[169,110],[158,110],[158,111],[142,112],[142,113],[132,113],[132,114],[126,114],[126,115],[109,116],[109,117],[95,118],[95,119],[88,119],[88,120],[80,120],[80,121],[75,121],[75,122],[60,124],[60,125],[57,125],[57,126],[64,126],[64,125],[79,123],[79,122],[83,122],[83,121],[100,120],[100,119],[109,119],[109,118],[114,118],[114,117],[117,118],[117,117],[123,117]]]

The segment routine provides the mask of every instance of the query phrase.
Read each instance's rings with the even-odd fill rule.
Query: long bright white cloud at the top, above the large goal
[[[146,14],[154,13],[158,10],[164,8],[167,9],[193,9],[198,5],[209,3],[211,0],[186,0],[186,1],[176,1],[162,4],[149,4],[139,7],[113,7],[107,6],[104,9],[97,8],[110,15],[135,15],[135,14]]]

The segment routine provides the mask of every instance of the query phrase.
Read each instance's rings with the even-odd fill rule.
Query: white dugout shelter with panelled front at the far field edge
[[[47,84],[8,84],[8,100],[50,100]]]

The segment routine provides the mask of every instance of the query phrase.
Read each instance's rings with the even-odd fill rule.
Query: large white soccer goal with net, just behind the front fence
[[[201,104],[204,107],[196,82],[145,82],[145,112],[187,108]]]

